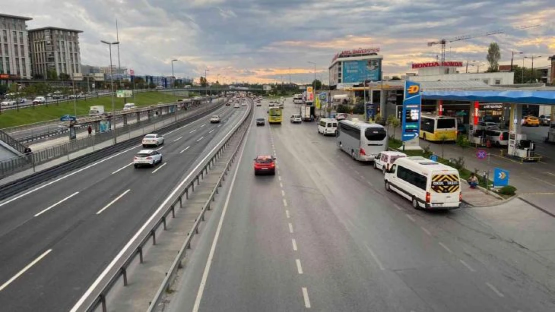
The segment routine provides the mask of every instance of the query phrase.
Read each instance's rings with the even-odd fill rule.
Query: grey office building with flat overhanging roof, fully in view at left
[[[29,30],[34,76],[53,78],[60,74],[80,74],[79,33],[82,30],[44,27]],[[50,74],[49,74],[50,73]]]

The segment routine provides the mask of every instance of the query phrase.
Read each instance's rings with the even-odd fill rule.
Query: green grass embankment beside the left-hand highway
[[[169,103],[176,99],[182,99],[183,96],[173,96],[162,92],[144,92],[135,94],[134,98],[128,98],[127,103],[135,103],[137,106],[149,106],[158,103]],[[123,109],[123,98],[114,98],[115,110]],[[100,98],[79,99],[77,100],[77,115],[87,115],[90,106],[104,105],[106,111],[112,111],[112,97],[102,96]],[[33,124],[39,121],[59,119],[63,115],[74,115],[73,101],[63,102],[59,104],[49,103],[46,105],[36,106],[32,108],[22,108],[19,111],[2,110],[0,115],[0,129]]]

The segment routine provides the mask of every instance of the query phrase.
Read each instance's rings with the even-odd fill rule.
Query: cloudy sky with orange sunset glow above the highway
[[[510,64],[514,50],[524,53],[515,64],[537,55],[534,68],[547,66],[555,55],[552,1],[18,0],[2,1],[0,13],[33,18],[28,29],[83,30],[82,64],[109,65],[100,40],[116,39],[117,20],[120,63],[137,75],[171,75],[176,59],[178,77],[198,80],[208,69],[209,81],[310,83],[315,62],[326,83],[341,50],[379,47],[384,75],[404,75],[413,62],[436,60],[440,47],[427,42],[494,30],[504,33],[448,44],[446,60],[481,61],[485,70],[487,47],[497,42],[500,64]],[[528,25],[538,26],[518,29]]]

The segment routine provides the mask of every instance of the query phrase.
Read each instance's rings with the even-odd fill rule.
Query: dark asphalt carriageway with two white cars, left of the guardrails
[[[67,311],[181,178],[238,122],[224,106],[164,135],[164,160],[135,170],[136,146],[0,202],[0,310]],[[49,251],[50,250],[50,251]]]

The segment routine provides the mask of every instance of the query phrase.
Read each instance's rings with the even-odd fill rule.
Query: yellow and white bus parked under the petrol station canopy
[[[423,113],[420,116],[420,138],[427,141],[456,141],[457,119]]]

